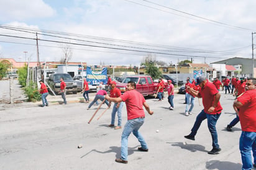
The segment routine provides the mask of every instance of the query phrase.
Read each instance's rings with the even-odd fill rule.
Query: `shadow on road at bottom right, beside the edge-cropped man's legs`
[[[219,170],[238,170],[242,169],[242,164],[231,163],[228,161],[212,160],[206,162],[206,169],[219,169]]]

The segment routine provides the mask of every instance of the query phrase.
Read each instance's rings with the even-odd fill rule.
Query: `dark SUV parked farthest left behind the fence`
[[[66,83],[66,92],[73,92],[73,94],[77,93],[77,85],[71,78],[70,74],[66,73],[54,73],[50,74],[48,78],[48,85],[54,92],[60,92],[60,78],[63,78]]]

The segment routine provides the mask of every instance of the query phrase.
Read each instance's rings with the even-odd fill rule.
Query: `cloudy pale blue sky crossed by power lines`
[[[251,58],[255,7],[255,0],[1,0],[0,57],[37,61],[37,32],[40,61],[60,61],[65,47],[70,61],[88,65],[139,65],[149,55],[173,64]]]

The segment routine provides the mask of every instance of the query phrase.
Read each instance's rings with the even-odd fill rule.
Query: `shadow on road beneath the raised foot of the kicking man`
[[[171,146],[178,146],[181,149],[185,149],[191,152],[196,152],[196,151],[202,151],[202,152],[208,152],[205,150],[205,147],[203,145],[198,145],[198,144],[188,144],[186,142],[167,142],[171,143]]]

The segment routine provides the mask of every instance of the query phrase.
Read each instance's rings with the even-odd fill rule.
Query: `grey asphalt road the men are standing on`
[[[96,106],[86,110],[88,104],[80,102],[0,110],[0,169],[241,169],[240,124],[233,132],[225,130],[227,123],[235,118],[234,97],[221,94],[224,110],[217,122],[222,149],[219,154],[207,153],[212,146],[206,121],[195,141],[183,137],[190,133],[203,106],[202,101],[199,105],[196,99],[193,115],[186,117],[185,96],[175,94],[175,110],[168,109],[167,98],[162,102],[147,99],[154,114],[145,113],[140,132],[149,145],[149,152],[138,151],[139,142],[131,134],[128,164],[114,161],[121,157],[122,129],[106,127],[111,121],[112,109],[97,120],[106,105],[89,124]],[[124,126],[125,106],[122,111]],[[78,148],[80,144],[82,148]]]

